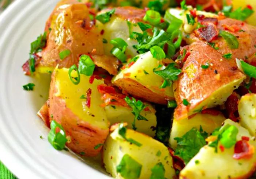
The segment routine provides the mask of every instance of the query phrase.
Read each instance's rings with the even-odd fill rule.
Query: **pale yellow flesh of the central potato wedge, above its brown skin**
[[[157,68],[159,65],[163,65],[163,63],[153,58],[151,52],[148,51],[141,54],[139,59],[131,67],[121,70],[120,73],[113,78],[112,82],[118,86],[118,84],[115,83],[118,79],[129,78],[145,86],[155,94],[165,96],[167,99],[173,99],[174,94],[172,86],[161,89],[160,86],[163,83],[163,78],[153,72],[153,69]],[[162,66],[158,70],[163,70],[164,68],[165,67]],[[145,71],[148,74],[146,74]],[[125,76],[125,74],[129,74],[129,76]],[[129,93],[128,90],[127,92]]]

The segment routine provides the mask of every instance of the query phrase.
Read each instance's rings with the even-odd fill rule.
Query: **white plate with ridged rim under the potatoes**
[[[0,160],[20,179],[109,178],[95,159],[79,160],[48,143],[48,129],[36,113],[47,98],[49,77],[22,72],[30,43],[43,33],[57,1],[16,0],[0,16]],[[29,82],[36,83],[33,92],[22,89]]]

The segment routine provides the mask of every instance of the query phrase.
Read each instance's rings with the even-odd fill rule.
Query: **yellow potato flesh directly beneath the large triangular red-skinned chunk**
[[[201,114],[197,113],[191,118],[185,118],[182,120],[173,120],[171,135],[169,139],[169,144],[172,149],[177,147],[177,141],[174,140],[175,137],[182,137],[192,128],[200,129],[200,125],[203,130],[208,134],[212,133],[214,129],[220,127],[222,122],[226,118],[222,114],[212,115],[212,114]]]

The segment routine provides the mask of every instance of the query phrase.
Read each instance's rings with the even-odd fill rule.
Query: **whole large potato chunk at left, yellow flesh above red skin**
[[[75,77],[76,72],[71,75]],[[80,83],[75,85],[69,79],[68,69],[55,69],[50,84],[49,116],[70,136],[67,147],[75,153],[96,156],[101,147],[94,147],[104,143],[109,133],[109,121],[104,108],[100,107],[101,94],[97,90],[103,82],[95,79],[91,84],[89,78],[81,74]],[[82,95],[87,99],[81,99]]]

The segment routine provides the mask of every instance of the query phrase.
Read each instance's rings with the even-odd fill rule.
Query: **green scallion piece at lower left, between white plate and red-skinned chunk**
[[[48,141],[56,150],[62,150],[65,147],[66,142],[66,133],[64,128],[57,123],[56,121],[52,120],[50,124],[50,132],[48,134]],[[56,132],[56,129],[59,128],[60,132]]]

